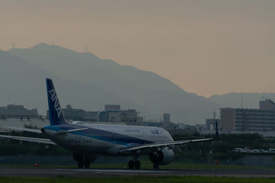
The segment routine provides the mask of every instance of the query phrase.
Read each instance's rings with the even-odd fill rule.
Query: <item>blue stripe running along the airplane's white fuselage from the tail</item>
[[[59,130],[74,130],[74,129],[80,129],[83,127],[85,126],[66,124],[66,125],[49,125],[44,128],[47,130],[59,131]],[[146,141],[140,138],[127,136],[125,134],[118,134],[115,132],[109,132],[106,130],[99,130],[93,127],[89,127],[89,129],[87,130],[80,130],[80,131],[69,132],[69,133],[78,134],[80,136],[87,136],[89,138],[96,138],[98,140],[107,141],[109,143],[115,143],[118,145],[126,145],[126,146],[152,143],[151,141]],[[100,135],[98,136],[94,134],[100,134]]]

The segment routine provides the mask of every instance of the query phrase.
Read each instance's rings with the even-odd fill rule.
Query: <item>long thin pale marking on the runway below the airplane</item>
[[[153,170],[129,170],[129,169],[55,169],[58,171],[96,171],[100,172],[119,172],[119,173],[170,173],[171,171],[153,171]]]

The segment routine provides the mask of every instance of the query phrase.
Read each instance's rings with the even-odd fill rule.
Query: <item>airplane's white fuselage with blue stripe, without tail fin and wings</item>
[[[56,133],[69,127],[89,127],[77,132]],[[45,134],[54,143],[82,154],[119,155],[120,149],[133,145],[171,142],[173,138],[160,127],[131,125],[72,124],[45,127]]]

